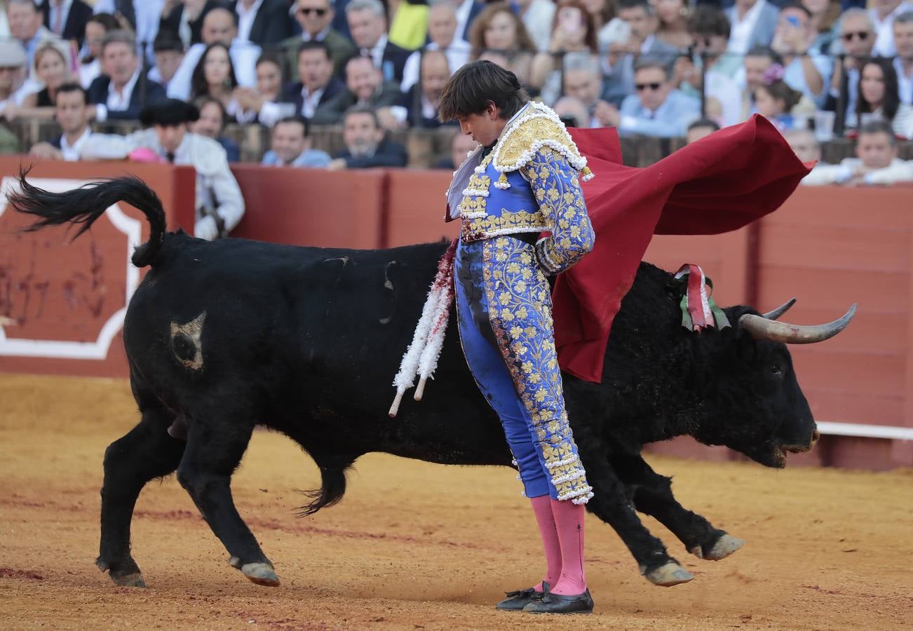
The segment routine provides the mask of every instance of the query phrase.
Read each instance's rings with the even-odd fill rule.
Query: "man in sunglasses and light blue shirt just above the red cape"
[[[636,94],[622,101],[621,110],[611,111],[603,123],[614,125],[623,136],[643,135],[678,138],[687,126],[700,118],[700,101],[674,89],[666,64],[641,58],[635,63]]]

